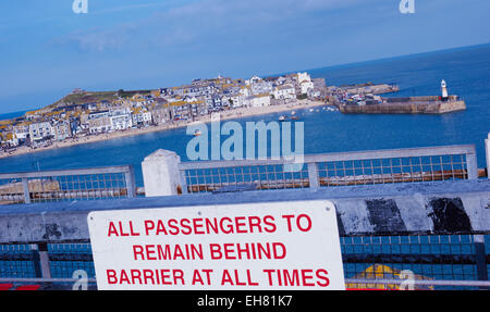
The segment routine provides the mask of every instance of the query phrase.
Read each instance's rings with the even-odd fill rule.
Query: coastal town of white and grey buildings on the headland
[[[324,78],[311,78],[308,73],[249,79],[218,76],[155,90],[74,89],[46,108],[0,121],[0,157],[207,122],[218,112],[229,118],[243,117],[353,99],[357,103],[364,99],[358,93],[396,90],[372,84],[327,87]]]

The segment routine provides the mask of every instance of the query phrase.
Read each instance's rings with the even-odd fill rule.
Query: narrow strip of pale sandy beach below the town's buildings
[[[324,105],[324,104],[326,104],[326,102],[323,102],[323,101],[302,100],[295,104],[270,105],[270,107],[264,107],[264,108],[238,108],[238,109],[233,109],[230,111],[220,112],[220,117],[222,121],[223,120],[234,120],[234,118],[242,118],[242,117],[248,117],[248,116],[254,116],[254,115],[266,115],[266,114],[278,113],[278,112],[308,109],[308,108],[320,107],[320,105]],[[195,120],[193,123],[196,123],[196,122],[209,123],[209,122],[211,122],[211,117],[203,116],[203,117]],[[15,155],[25,154],[25,153],[40,152],[40,151],[46,151],[46,150],[51,150],[51,149],[69,148],[72,146],[91,143],[91,142],[97,142],[97,141],[102,141],[102,140],[110,140],[110,139],[115,139],[115,138],[169,130],[169,129],[174,129],[174,128],[179,128],[179,127],[186,127],[188,124],[191,124],[191,122],[180,122],[180,123],[173,122],[172,124],[166,124],[166,125],[160,125],[160,126],[148,126],[148,127],[140,128],[140,129],[127,129],[127,130],[113,132],[113,133],[108,133],[108,134],[77,137],[77,138],[71,138],[71,139],[64,140],[64,141],[56,141],[51,146],[40,147],[40,148],[36,148],[36,149],[33,149],[30,147],[20,147],[14,151],[0,152],[0,159],[15,157]]]

